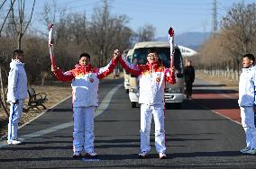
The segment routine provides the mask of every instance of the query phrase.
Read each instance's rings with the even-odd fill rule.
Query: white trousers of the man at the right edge
[[[256,148],[256,128],[253,107],[240,107],[242,128],[245,131],[246,146]]]

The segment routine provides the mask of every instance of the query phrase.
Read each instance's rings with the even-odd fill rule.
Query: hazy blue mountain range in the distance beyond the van
[[[175,43],[190,49],[199,49],[203,42],[211,36],[211,32],[185,32],[175,35]],[[159,37],[158,41],[167,41],[167,37]]]

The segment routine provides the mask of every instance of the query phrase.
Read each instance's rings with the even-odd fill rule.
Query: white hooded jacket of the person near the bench
[[[27,97],[27,75],[24,64],[18,60],[12,59],[10,63],[10,72],[8,76],[7,102],[25,100]]]

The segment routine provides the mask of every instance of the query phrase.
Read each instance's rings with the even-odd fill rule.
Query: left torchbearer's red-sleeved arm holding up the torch
[[[56,76],[57,80],[61,82],[69,82],[73,78],[75,78],[72,71],[67,71],[63,73],[59,67],[52,66],[52,65],[51,65],[51,72],[53,73],[54,76]]]

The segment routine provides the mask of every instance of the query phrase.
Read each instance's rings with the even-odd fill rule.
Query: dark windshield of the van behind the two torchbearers
[[[134,49],[132,63],[135,65],[145,65],[147,63],[147,53],[150,48]],[[159,52],[159,58],[162,61],[164,67],[170,67],[170,56],[169,48],[154,48]],[[183,73],[183,60],[181,52],[178,48],[175,49],[174,53],[174,67],[178,72]]]

